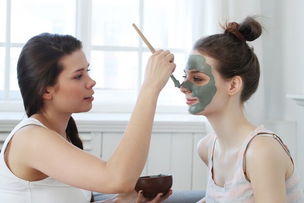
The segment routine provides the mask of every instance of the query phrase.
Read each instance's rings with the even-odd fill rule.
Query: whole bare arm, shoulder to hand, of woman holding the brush
[[[108,161],[76,148],[50,129],[33,125],[14,136],[9,160],[24,171],[41,171],[75,187],[101,193],[132,191],[148,156],[157,98],[174,71],[173,61],[169,51],[150,57],[130,122]]]

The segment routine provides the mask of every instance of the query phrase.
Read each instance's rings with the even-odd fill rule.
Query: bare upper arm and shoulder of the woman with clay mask
[[[256,203],[286,203],[285,180],[293,165],[284,149],[270,137],[256,137],[246,153],[248,178]]]

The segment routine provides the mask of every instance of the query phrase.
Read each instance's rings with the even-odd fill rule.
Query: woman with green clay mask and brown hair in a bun
[[[199,203],[303,203],[300,178],[287,147],[244,113],[259,83],[253,41],[262,26],[253,17],[226,23],[223,34],[199,39],[189,55],[181,91],[191,114],[207,117],[215,133],[198,144],[209,167]]]

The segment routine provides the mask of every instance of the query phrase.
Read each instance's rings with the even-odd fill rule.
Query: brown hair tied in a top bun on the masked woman
[[[224,79],[240,76],[243,89],[240,99],[247,101],[257,90],[260,78],[260,65],[253,47],[246,41],[253,41],[262,34],[262,25],[256,17],[247,17],[239,24],[226,22],[221,25],[223,34],[203,37],[193,46],[201,54],[210,56],[218,61],[215,67]]]

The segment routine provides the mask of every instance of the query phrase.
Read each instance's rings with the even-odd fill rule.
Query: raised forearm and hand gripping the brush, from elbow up
[[[161,68],[146,69],[144,83],[128,127],[117,150],[107,162],[107,166],[110,168],[120,168],[119,173],[126,179],[125,186],[130,187],[130,189],[134,189],[147,160],[158,94],[175,68],[175,64],[169,62],[173,60],[173,55],[167,55],[168,53],[169,51],[165,51],[159,54],[159,51],[157,51],[149,59],[148,67]],[[167,60],[156,60],[157,57],[167,57]],[[162,72],[167,72],[167,74]],[[160,86],[159,84],[163,85]]]

